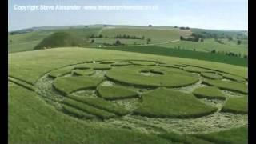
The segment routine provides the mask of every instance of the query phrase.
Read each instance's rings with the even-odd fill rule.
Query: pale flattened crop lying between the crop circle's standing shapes
[[[52,86],[52,82],[54,82],[54,79],[48,77],[49,73],[43,75],[41,78],[38,79],[38,82],[36,82],[34,86],[35,92],[40,95],[41,98],[46,100],[46,102],[48,102],[50,105],[53,105],[57,110],[60,110],[61,112],[61,103],[62,100],[65,99],[65,97],[63,97],[62,94],[58,93],[58,91],[54,90]],[[98,72],[98,74],[94,74],[94,77],[102,77],[104,76],[104,74],[105,72]],[[109,82],[109,80],[106,80],[104,82],[108,82],[111,85],[122,85],[116,82]],[[202,85],[202,79],[200,79],[199,82],[193,85],[183,86],[181,88],[174,88],[173,90],[181,90],[186,93],[191,93],[191,91],[201,86],[204,86]],[[142,93],[139,89],[134,88],[134,90],[139,91],[140,94]],[[84,91],[86,94],[86,90]],[[137,98],[130,99],[130,103],[127,103],[126,100],[118,100],[113,102],[118,103],[121,106],[123,104],[123,106],[128,106],[130,110],[134,110],[136,107],[138,107],[139,101],[136,100]],[[209,101],[205,99],[200,99],[200,101],[204,102],[207,105],[218,107],[218,111],[200,118],[147,118],[138,115],[135,116],[132,114],[128,114],[121,118],[110,118],[104,120],[104,122],[102,122],[101,120],[94,120],[93,122],[91,120],[82,121],[98,123],[102,126],[118,126],[124,129],[138,130],[142,133],[147,134],[163,134],[169,131],[176,132],[178,134],[206,134],[218,130],[227,130],[233,127],[247,125],[247,114],[230,114],[220,112],[225,102]]]

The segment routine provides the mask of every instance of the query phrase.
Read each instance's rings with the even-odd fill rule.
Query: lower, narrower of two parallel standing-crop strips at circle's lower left
[[[63,103],[68,105],[68,106],[73,106],[74,108],[76,108],[78,110],[82,110],[86,113],[94,114],[98,118],[108,119],[108,118],[114,118],[114,116],[115,116],[113,113],[107,112],[106,110],[101,110],[101,109],[98,109],[94,106],[90,106],[90,105],[87,105],[87,104],[82,103],[82,102],[75,101],[75,100],[70,99],[70,98],[66,98],[63,101]]]

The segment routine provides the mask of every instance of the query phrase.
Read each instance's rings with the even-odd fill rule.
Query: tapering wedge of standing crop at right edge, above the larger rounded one
[[[206,83],[210,86],[216,86],[222,90],[230,90],[242,94],[248,93],[248,86],[244,83],[239,82],[229,82],[229,81],[220,81],[220,80],[204,80],[203,83]]]

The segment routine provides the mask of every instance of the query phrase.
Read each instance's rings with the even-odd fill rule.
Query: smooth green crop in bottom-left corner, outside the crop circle
[[[8,143],[172,143],[141,134],[82,122],[46,104],[33,91],[8,82]]]

